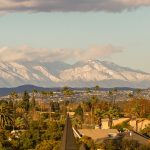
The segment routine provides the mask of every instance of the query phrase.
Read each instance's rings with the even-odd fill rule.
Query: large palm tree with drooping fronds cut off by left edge
[[[4,128],[6,125],[12,125],[12,112],[6,103],[0,105],[0,128]]]

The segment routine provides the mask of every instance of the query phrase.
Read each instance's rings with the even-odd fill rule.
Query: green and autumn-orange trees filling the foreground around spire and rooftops
[[[99,86],[94,88],[95,93],[99,90]],[[74,112],[74,116],[71,118],[72,125],[78,128],[86,125],[90,128],[94,128],[95,125],[102,128],[102,119],[108,118],[110,128],[122,130],[130,128],[128,122],[114,127],[114,118],[130,117],[136,120],[141,117],[150,118],[149,100],[131,95],[130,100],[118,102],[114,97],[116,92],[117,90],[114,89],[108,93],[111,101],[102,101],[95,94],[95,96],[89,96],[86,101],[80,102],[67,100],[53,102],[51,100],[54,96],[52,91],[33,90],[31,94],[25,91],[22,95],[13,92],[10,94],[9,100],[0,101],[0,149],[59,149],[68,111]],[[62,93],[64,98],[74,94],[68,87],[64,87]],[[41,97],[39,101],[36,100],[37,94]],[[149,131],[150,126],[147,126],[141,133],[150,136]],[[84,143],[87,149],[115,149],[118,146],[110,140],[96,145],[88,137],[77,139],[77,143],[79,145]],[[119,145],[121,149],[129,149],[129,147],[136,147],[139,144],[135,141],[125,140],[120,143],[122,143]],[[125,146],[123,147],[123,145]]]

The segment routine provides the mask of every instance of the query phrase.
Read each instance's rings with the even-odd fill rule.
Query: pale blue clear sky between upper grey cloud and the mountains
[[[122,12],[118,10],[9,12],[8,10],[8,13],[2,13],[0,16],[0,49],[3,49],[4,53],[5,48],[10,55],[14,55],[14,51],[16,49],[19,51],[23,46],[28,47],[24,51],[29,51],[31,47],[34,52],[41,49],[53,52],[55,49],[56,51],[67,49],[68,53],[69,50],[73,52],[80,49],[80,53],[73,52],[72,58],[68,59],[76,61],[75,57],[81,55],[81,51],[87,50],[87,53],[91,54],[89,49],[96,47],[96,54],[99,54],[99,57],[93,56],[93,59],[95,57],[113,61],[150,73],[149,27],[150,7],[130,11],[125,9]],[[111,51],[108,55],[97,52],[106,45],[111,45],[110,47],[116,48],[117,51]],[[105,51],[105,48],[102,51]],[[5,56],[1,55],[0,59],[3,60],[3,57]],[[59,60],[59,57],[56,57],[57,59]],[[77,60],[80,59],[81,57]]]

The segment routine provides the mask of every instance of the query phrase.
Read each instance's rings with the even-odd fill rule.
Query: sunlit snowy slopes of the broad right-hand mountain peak
[[[150,74],[120,67],[113,63],[101,61],[88,61],[78,63],[72,69],[60,73],[60,78],[67,81],[102,81],[102,80],[123,80],[142,81],[150,80]]]

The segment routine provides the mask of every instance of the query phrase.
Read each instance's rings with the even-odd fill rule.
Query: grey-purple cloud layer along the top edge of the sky
[[[0,12],[120,12],[150,6],[150,0],[0,0]]]

